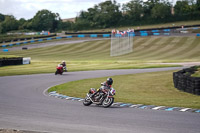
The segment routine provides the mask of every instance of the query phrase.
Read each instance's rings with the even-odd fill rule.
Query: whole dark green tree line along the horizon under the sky
[[[31,31],[77,31],[119,26],[158,24],[174,21],[199,20],[200,0],[131,0],[120,5],[116,0],[107,0],[80,11],[75,22],[63,22],[58,13],[41,10],[29,20],[17,20],[12,15],[0,13],[0,33],[13,30]]]

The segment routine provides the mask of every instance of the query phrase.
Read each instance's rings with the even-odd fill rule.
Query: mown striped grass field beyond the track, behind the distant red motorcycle
[[[1,56],[31,57],[30,65],[0,67],[0,76],[53,73],[62,60],[69,71],[154,68],[173,66],[159,63],[200,61],[199,37],[134,37],[133,40],[133,52],[117,57],[110,57],[110,40],[0,52]]]

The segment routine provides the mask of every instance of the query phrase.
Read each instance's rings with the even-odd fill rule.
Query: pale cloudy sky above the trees
[[[105,0],[0,0],[0,13],[13,15],[16,19],[33,18],[42,9],[59,13],[61,19],[74,18],[81,11],[87,11],[95,4]],[[127,3],[130,0],[116,0],[117,3]]]

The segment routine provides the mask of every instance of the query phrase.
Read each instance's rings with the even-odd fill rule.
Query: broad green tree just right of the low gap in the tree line
[[[76,19],[76,23],[78,25],[87,25],[86,28],[116,26],[122,17],[119,7],[120,5],[115,0],[101,2],[95,5],[94,8],[89,8],[88,11],[81,11]]]

